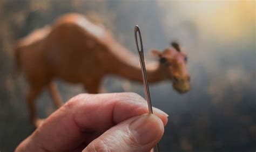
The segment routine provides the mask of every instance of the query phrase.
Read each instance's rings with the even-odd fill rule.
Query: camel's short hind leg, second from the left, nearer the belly
[[[54,82],[50,82],[48,85],[48,89],[55,106],[57,108],[61,107],[63,105],[63,102],[62,102],[62,98],[59,95],[57,85]]]

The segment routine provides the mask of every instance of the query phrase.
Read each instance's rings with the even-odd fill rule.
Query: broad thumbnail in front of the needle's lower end
[[[129,128],[134,139],[140,145],[146,145],[160,139],[164,130],[163,122],[153,114],[140,116],[130,123]]]

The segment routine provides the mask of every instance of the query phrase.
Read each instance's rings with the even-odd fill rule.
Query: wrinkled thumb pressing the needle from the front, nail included
[[[141,115],[110,128],[83,151],[150,151],[163,134],[164,124],[156,115]]]

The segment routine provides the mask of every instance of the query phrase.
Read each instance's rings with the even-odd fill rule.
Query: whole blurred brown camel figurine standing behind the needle
[[[172,46],[163,52],[152,51],[159,61],[146,65],[147,77],[149,83],[171,80],[176,91],[185,93],[190,90],[187,57],[178,43]],[[29,84],[26,100],[35,126],[39,124],[35,100],[44,87],[57,107],[63,104],[53,78],[81,83],[92,94],[99,93],[100,82],[107,74],[143,81],[138,57],[120,45],[104,26],[76,13],[64,15],[19,40],[15,60]]]

